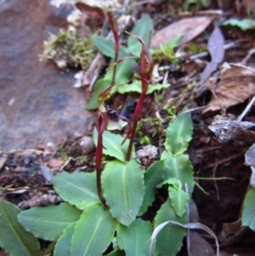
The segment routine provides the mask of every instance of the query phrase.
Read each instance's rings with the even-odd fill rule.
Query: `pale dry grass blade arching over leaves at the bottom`
[[[152,236],[150,237],[150,256],[152,256],[152,249],[153,246],[156,242],[156,236],[158,235],[158,233],[168,224],[172,224],[172,225],[178,225],[184,229],[190,229],[190,230],[204,230],[206,231],[209,235],[211,235],[214,239],[215,239],[215,244],[217,247],[217,253],[216,256],[219,256],[219,246],[218,246],[218,239],[217,237],[214,235],[214,233],[212,232],[212,230],[210,230],[206,225],[202,225],[201,223],[187,223],[187,224],[181,224],[178,223],[176,221],[166,221],[161,223],[161,225],[158,225],[156,227],[156,229],[153,231]]]

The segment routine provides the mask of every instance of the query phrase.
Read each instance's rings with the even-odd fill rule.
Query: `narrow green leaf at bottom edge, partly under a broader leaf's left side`
[[[77,223],[72,223],[63,231],[54,247],[54,256],[70,256],[71,237]]]

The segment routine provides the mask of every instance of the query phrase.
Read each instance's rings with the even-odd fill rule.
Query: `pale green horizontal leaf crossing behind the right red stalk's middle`
[[[149,87],[147,89],[146,94],[152,94],[155,91],[160,91],[163,88],[168,88],[170,86],[170,83],[156,83],[156,84],[149,84]],[[127,93],[141,93],[141,81],[135,80],[132,83],[129,84],[121,84],[117,86],[117,91],[119,94],[127,94]]]

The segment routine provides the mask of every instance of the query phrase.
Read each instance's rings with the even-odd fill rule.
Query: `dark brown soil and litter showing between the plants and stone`
[[[173,1],[174,2],[174,1]],[[178,1],[176,1],[178,2]],[[238,1],[237,1],[238,2]],[[240,15],[246,17],[246,2],[241,3],[240,8],[234,8],[234,1],[212,1],[207,9],[218,8],[218,5],[224,10],[228,17]],[[253,2],[252,2],[253,3]],[[159,1],[154,5],[144,3],[138,5],[133,11],[136,17],[142,13],[149,13],[156,24],[156,30],[168,25],[169,20],[178,20],[178,10],[180,5],[175,3],[171,5],[171,11],[167,12],[167,2]],[[169,7],[169,6],[168,6]],[[252,9],[254,11],[254,9]],[[190,15],[195,12],[195,6],[190,7]],[[254,12],[250,14],[254,18]],[[220,18],[218,18],[220,20]],[[192,43],[197,44],[197,48],[207,45],[208,36],[212,33],[213,26],[199,37],[196,37]],[[226,27],[223,29],[225,40],[237,41],[246,38],[244,43],[237,48],[229,49],[224,54],[225,62],[241,62],[246,57],[247,51],[254,47],[254,31],[241,31],[235,27]],[[189,43],[185,46],[189,47]],[[248,60],[248,65],[254,65],[255,57]],[[209,57],[201,61],[210,61]],[[198,107],[207,105],[212,94],[204,89],[202,92],[197,86],[190,86],[189,75],[195,71],[192,80],[199,82],[202,69],[195,62],[190,62],[183,58],[178,62],[181,68],[169,72],[168,82],[171,82],[170,88],[164,89],[161,93],[161,100],[156,100],[154,96],[147,96],[144,102],[142,117],[156,117],[156,111],[161,117],[169,116],[164,106],[172,102],[176,106],[176,112],[179,113],[184,106],[189,109],[197,108],[191,112],[194,134],[190,143],[188,154],[194,167],[195,181],[202,187],[195,186],[193,200],[198,210],[199,222],[207,225],[218,236],[221,246],[221,255],[239,256],[255,255],[255,233],[248,228],[241,228],[239,220],[241,219],[241,208],[246,191],[249,189],[251,177],[251,168],[245,165],[245,152],[252,145],[242,140],[229,141],[226,143],[218,142],[215,134],[208,128],[216,115],[223,114],[220,111],[209,111],[202,113]],[[86,88],[88,93],[88,88]],[[225,113],[224,118],[236,119],[241,115],[251,98],[247,98],[243,103],[230,106]],[[110,101],[112,109],[122,111],[132,120],[133,109],[138,100],[138,94],[116,94]],[[130,104],[131,103],[131,104]],[[118,107],[122,106],[120,110]],[[96,112],[93,113],[96,116]],[[255,109],[252,106],[243,121],[252,122],[255,118]],[[94,120],[94,118],[93,118]],[[144,122],[140,127],[141,134],[150,138],[151,144],[156,145],[160,151],[164,139],[164,130],[167,128],[171,119],[158,127],[153,121]],[[30,150],[17,149],[14,151],[0,151],[0,198],[17,204],[21,209],[31,208],[37,205],[46,206],[52,203],[59,203],[61,199],[56,195],[54,188],[48,182],[49,173],[58,174],[62,169],[67,172],[85,171],[93,172],[94,162],[94,142],[89,139],[93,133],[95,122],[89,123],[88,131],[84,134],[71,134],[65,138],[65,141],[59,145],[40,144]],[[156,134],[155,134],[155,131]],[[136,149],[143,147],[141,145],[142,137],[135,140]],[[85,140],[86,143],[81,142]],[[85,145],[85,146],[84,146]],[[146,160],[146,159],[145,159]],[[144,160],[144,166],[150,165],[150,159]],[[152,160],[153,161],[153,160]],[[203,177],[210,178],[228,178],[221,180],[204,180]],[[200,178],[200,179],[198,179]],[[166,195],[161,191],[157,198],[164,201]],[[150,208],[144,215],[144,219],[151,219],[156,213],[158,205]],[[214,242],[210,237],[200,232],[200,235],[206,239],[209,246],[214,247]],[[47,245],[46,245],[47,246]],[[3,250],[2,254],[3,255]],[[179,255],[187,255],[185,246]],[[193,255],[193,254],[192,254]],[[202,255],[196,253],[194,255]]]

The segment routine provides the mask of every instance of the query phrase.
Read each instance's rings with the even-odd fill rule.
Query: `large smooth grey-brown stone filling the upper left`
[[[84,89],[72,88],[77,71],[39,62],[48,32],[67,26],[71,9],[48,1],[10,0],[0,5],[0,147],[35,148],[76,131],[85,134],[94,114],[84,110]]]

